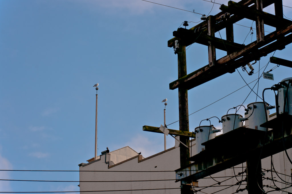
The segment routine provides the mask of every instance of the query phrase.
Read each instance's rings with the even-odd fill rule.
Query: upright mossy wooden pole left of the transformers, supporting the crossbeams
[[[178,41],[180,44],[180,41]],[[185,54],[185,46],[180,44],[178,49],[178,79],[187,75],[187,59]],[[179,129],[180,131],[189,131],[189,108],[187,99],[187,89],[178,87],[178,109],[179,109]],[[180,141],[188,147],[190,146],[190,138],[180,136]],[[190,164],[188,158],[190,157],[190,149],[180,145],[180,167]],[[180,184],[181,194],[192,193],[191,186]]]

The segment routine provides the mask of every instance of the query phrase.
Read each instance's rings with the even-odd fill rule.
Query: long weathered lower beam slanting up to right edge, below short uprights
[[[214,69],[214,67],[211,69],[209,65],[206,65],[199,70],[171,82],[169,84],[169,89],[173,90],[179,86],[192,89],[227,72],[230,72],[232,69],[235,70],[236,68],[246,65],[248,62],[251,62],[259,57],[266,56],[268,53],[277,50],[277,48],[290,44],[292,42],[292,34],[284,37],[290,32],[292,32],[292,24],[266,35],[264,42],[254,41],[251,44],[246,45],[240,51],[236,51],[230,55],[218,59],[216,61],[217,65],[215,65],[216,69]],[[275,41],[276,39],[279,40]],[[275,42],[271,43],[272,41]],[[265,46],[266,44],[269,45]],[[258,49],[262,46],[264,47]]]

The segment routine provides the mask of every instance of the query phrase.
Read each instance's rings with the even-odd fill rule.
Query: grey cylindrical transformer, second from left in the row
[[[239,114],[228,114],[221,117],[223,134],[242,126],[242,116]]]

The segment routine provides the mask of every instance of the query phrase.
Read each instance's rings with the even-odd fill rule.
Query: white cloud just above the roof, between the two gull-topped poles
[[[124,144],[124,146],[130,146],[136,152],[141,152],[143,157],[148,157],[161,152],[162,150],[157,148],[163,148],[162,143],[163,141],[151,141],[146,136],[138,134],[133,136],[130,141]]]

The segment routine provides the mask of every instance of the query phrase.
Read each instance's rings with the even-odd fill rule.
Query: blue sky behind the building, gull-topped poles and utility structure
[[[154,2],[206,15],[213,5],[201,0]],[[226,0],[215,2],[227,5]],[[292,7],[288,0],[283,5]],[[214,4],[210,15],[220,12],[219,6]],[[292,18],[292,8],[283,10]],[[273,13],[273,6],[264,11]],[[164,98],[168,98],[166,124],[178,120],[178,91],[169,90],[169,83],[178,76],[177,56],[167,47],[167,41],[183,21],[198,22],[200,17],[140,0],[0,0],[1,169],[78,170],[78,164],[92,158],[96,94],[92,86],[96,83],[100,84],[99,154],[107,146],[109,150],[130,146],[144,157],[162,151],[163,134],[142,131],[142,126],[163,124]],[[250,20],[237,23],[252,24]],[[234,25],[237,43],[242,44],[246,36],[245,44],[256,40],[256,31],[251,36],[248,27]],[[265,26],[265,30],[275,29]],[[225,37],[224,30],[220,34]],[[219,37],[218,32],[215,35]],[[218,51],[216,55],[220,58],[226,53]],[[274,56],[292,60],[291,45]],[[268,63],[269,57],[253,65],[255,72],[259,63],[260,68]],[[208,48],[190,46],[187,72],[206,64]],[[270,63],[266,71],[274,66]],[[241,68],[239,72],[248,83],[258,78],[258,74],[248,76]],[[292,77],[291,72],[288,67],[277,67],[271,72],[274,81],[260,79],[259,94]],[[189,90],[189,113],[244,85],[234,72]],[[244,87],[191,115],[190,131],[202,119],[222,117],[229,108],[240,105],[249,92]],[[274,105],[271,91],[265,98]],[[251,93],[244,105],[254,101],[256,95]],[[243,110],[239,112],[244,114]],[[211,122],[220,128],[218,121]],[[178,129],[178,122],[169,128]],[[167,143],[167,148],[173,147],[173,138],[168,137]],[[0,172],[0,178],[78,181],[79,174]],[[77,185],[0,181],[0,190],[69,191],[79,190]]]

